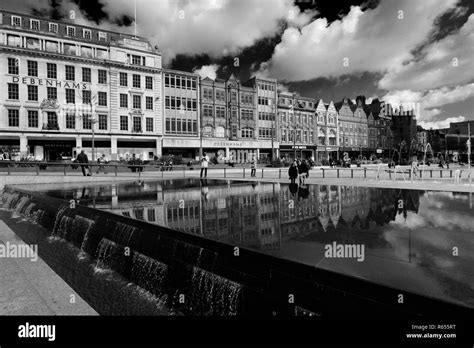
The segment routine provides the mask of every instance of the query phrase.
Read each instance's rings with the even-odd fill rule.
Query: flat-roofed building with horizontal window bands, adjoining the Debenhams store
[[[199,75],[163,70],[163,155],[198,155],[200,122]]]

